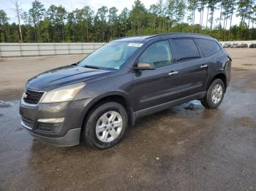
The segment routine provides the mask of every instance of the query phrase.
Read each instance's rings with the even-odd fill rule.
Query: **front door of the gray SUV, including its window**
[[[132,98],[135,112],[179,98],[178,65],[173,62],[169,40],[149,45],[138,62],[153,63],[156,69],[134,72]]]

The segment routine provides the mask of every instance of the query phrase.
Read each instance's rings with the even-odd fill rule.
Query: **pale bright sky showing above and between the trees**
[[[10,23],[17,23],[17,18],[15,17],[15,12],[12,10],[13,4],[12,1],[15,0],[0,0],[0,9],[4,9],[5,12],[7,12],[7,17],[10,18]],[[31,2],[33,0],[18,0],[21,8],[23,11],[28,11],[31,8]],[[81,9],[84,6],[89,6],[91,9],[94,10],[94,12],[97,12],[97,9],[99,9],[102,6],[110,7],[116,7],[118,9],[118,13],[121,12],[124,7],[127,7],[128,9],[132,9],[132,4],[134,4],[134,0],[39,0],[42,4],[45,5],[45,8],[48,9],[51,4],[55,4],[56,6],[62,5],[67,9],[67,11],[71,12],[72,10],[78,8]],[[145,7],[148,9],[151,4],[157,4],[158,0],[140,0],[143,2]],[[205,10],[203,18],[204,23],[203,25],[206,26],[206,12]],[[220,11],[217,10],[214,12],[214,20],[219,17]],[[196,12],[195,14],[195,23],[199,23],[200,15],[199,12]],[[238,24],[239,18],[236,17],[236,15],[233,15],[233,24]],[[215,23],[216,24],[216,23]]]

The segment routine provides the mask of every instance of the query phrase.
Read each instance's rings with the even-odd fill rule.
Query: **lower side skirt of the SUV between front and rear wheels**
[[[177,106],[177,105],[180,105],[180,104],[184,104],[188,101],[192,101],[192,100],[195,100],[195,99],[200,99],[200,98],[203,98],[205,95],[206,95],[206,91],[201,92],[201,93],[196,93],[194,95],[189,95],[189,96],[184,97],[184,98],[179,98],[179,99],[176,99],[174,101],[169,101],[165,104],[159,104],[157,106],[151,106],[151,107],[148,107],[146,109],[142,109],[138,112],[134,112],[133,117],[132,117],[132,125],[135,124],[135,120],[137,120],[139,117],[143,117],[143,116],[146,116],[148,114],[153,114],[155,112],[160,112],[162,110],[168,109],[171,106]]]

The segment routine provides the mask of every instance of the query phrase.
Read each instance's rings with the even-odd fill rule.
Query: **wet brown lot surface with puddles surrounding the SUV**
[[[20,125],[26,79],[82,55],[0,58],[0,190],[256,190],[256,49],[228,49],[218,109],[199,101],[151,114],[116,147],[52,147]]]

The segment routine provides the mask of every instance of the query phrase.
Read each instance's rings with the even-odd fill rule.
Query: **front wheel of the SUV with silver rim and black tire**
[[[99,149],[116,145],[123,138],[128,126],[127,111],[116,102],[100,104],[90,112],[87,119],[83,137],[87,144]]]

